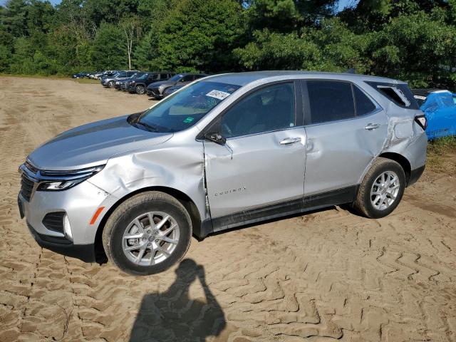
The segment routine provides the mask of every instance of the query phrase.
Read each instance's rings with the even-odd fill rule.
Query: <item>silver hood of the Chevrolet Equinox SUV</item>
[[[124,115],[67,130],[31,152],[28,160],[41,170],[77,170],[105,164],[113,155],[172,137],[172,133],[135,128],[127,118]]]

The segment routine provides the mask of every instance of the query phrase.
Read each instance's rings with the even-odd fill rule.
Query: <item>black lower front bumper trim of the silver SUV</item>
[[[57,238],[39,234],[28,222],[27,227],[40,247],[66,257],[77,258],[85,262],[95,262],[95,244],[73,244],[73,242],[63,237]]]

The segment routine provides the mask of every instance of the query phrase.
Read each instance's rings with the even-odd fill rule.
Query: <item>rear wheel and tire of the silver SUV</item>
[[[393,180],[395,181],[393,182]],[[353,207],[365,217],[379,219],[388,216],[398,207],[404,190],[405,172],[403,168],[394,160],[379,157],[364,176]]]

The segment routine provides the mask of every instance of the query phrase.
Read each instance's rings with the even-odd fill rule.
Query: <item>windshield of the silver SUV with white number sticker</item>
[[[133,125],[159,133],[185,130],[239,88],[227,83],[193,83],[146,110]]]

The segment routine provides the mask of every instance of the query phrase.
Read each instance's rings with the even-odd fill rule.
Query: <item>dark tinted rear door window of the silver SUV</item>
[[[310,123],[355,118],[351,83],[339,81],[306,81],[309,94]]]

